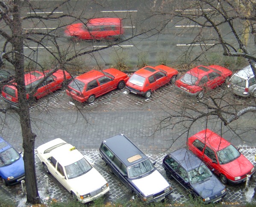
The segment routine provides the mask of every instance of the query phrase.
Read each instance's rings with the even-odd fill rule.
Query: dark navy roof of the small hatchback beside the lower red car
[[[171,152],[169,155],[177,160],[179,164],[187,171],[195,169],[204,164],[202,160],[200,160],[186,148],[177,149],[174,152]]]

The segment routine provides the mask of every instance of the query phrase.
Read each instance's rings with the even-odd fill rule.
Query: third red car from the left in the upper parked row
[[[165,65],[142,67],[129,78],[126,88],[130,93],[145,96],[148,99],[159,87],[169,82],[174,83],[177,75],[177,70]]]

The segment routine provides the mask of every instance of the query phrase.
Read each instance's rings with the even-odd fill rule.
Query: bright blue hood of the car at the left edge
[[[0,167],[0,176],[5,179],[8,178],[9,176],[18,178],[24,174],[25,174],[25,169],[24,169],[24,161],[22,157],[20,157],[20,159],[16,160],[11,165]]]

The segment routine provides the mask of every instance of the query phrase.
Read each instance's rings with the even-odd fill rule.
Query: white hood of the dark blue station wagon
[[[168,181],[155,170],[150,175],[132,180],[132,183],[145,195],[152,195],[169,187]]]

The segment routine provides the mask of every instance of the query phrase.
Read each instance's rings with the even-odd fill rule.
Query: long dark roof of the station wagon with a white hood
[[[148,157],[141,152],[138,147],[129,140],[124,134],[118,134],[109,139],[103,140],[103,143],[117,156],[126,166],[134,165],[142,160],[146,160]],[[141,155],[140,159],[136,159],[133,162],[129,162],[127,159],[135,155]]]

